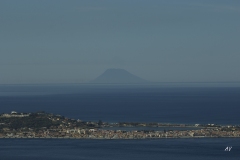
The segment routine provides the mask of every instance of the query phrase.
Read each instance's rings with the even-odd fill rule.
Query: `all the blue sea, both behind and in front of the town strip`
[[[0,85],[0,114],[83,121],[240,125],[238,83]],[[240,159],[240,138],[0,139],[0,159]]]

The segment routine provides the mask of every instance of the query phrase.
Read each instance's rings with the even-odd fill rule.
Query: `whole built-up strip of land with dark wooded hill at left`
[[[132,127],[133,130],[124,130],[121,129],[122,127]],[[149,127],[150,130],[147,129]],[[158,127],[166,129],[159,131],[156,130]],[[182,129],[168,130],[169,127],[180,127]],[[195,129],[191,129],[193,127]],[[240,126],[138,122],[107,123],[101,120],[85,122],[44,111],[36,113],[12,111],[9,114],[0,115],[0,138],[147,139],[204,137],[240,137]]]

